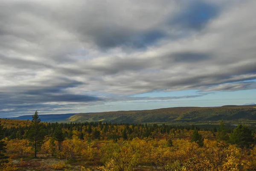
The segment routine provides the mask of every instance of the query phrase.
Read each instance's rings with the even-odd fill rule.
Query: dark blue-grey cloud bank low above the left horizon
[[[0,91],[2,104],[6,103],[44,103],[44,102],[88,102],[100,101],[100,98],[82,94],[70,93],[69,88],[84,85],[82,82],[55,78],[55,81],[46,79],[40,85],[19,85],[2,87]]]

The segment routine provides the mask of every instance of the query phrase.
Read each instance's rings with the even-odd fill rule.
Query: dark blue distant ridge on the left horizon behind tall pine
[[[70,116],[77,113],[38,115],[42,122],[65,122]],[[9,119],[32,120],[32,115],[18,116]]]

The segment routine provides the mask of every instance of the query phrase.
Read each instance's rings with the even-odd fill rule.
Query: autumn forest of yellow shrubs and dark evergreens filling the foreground
[[[256,170],[256,129],[0,119],[0,169],[65,171]]]

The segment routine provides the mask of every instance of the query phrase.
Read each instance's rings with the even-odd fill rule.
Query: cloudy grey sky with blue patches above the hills
[[[0,0],[0,117],[256,103],[256,0]]]

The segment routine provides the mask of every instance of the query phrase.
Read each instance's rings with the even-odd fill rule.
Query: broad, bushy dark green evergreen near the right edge
[[[254,142],[254,137],[247,126],[240,124],[230,134],[230,142],[239,145],[241,148],[249,147]]]

